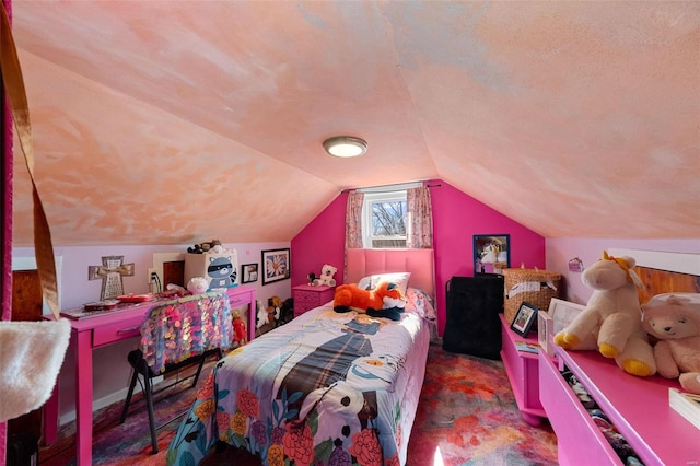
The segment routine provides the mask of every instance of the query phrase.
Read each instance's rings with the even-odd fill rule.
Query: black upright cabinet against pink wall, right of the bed
[[[486,273],[447,281],[445,351],[501,359],[503,284],[503,276]]]

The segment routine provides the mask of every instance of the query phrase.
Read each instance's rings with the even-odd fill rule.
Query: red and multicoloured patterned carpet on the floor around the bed
[[[200,383],[211,365],[202,371]],[[189,408],[195,391],[175,391],[158,401],[156,426]],[[160,452],[152,455],[144,405],[135,406],[124,424],[119,424],[120,413],[121,403],[95,413],[93,464],[164,465],[178,420],[159,429]],[[74,433],[72,422],[63,426],[59,440],[40,450],[39,464],[74,465]],[[259,462],[246,452],[229,447],[212,452],[203,464],[254,466]],[[448,353],[441,346],[431,345],[407,465],[477,464],[556,465],[557,439],[546,421],[536,428],[522,420],[500,361]]]

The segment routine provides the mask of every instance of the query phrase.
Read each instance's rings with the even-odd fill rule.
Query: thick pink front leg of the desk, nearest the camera
[[[75,345],[75,438],[78,465],[92,464],[92,331],[79,331]]]

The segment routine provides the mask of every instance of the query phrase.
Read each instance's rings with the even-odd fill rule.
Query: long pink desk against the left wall
[[[248,340],[255,338],[255,289],[228,290],[231,307],[248,306]],[[130,305],[113,314],[71,319],[71,339],[75,354],[75,442],[78,465],[92,464],[92,350],[127,338],[138,337],[145,313],[158,302]],[[52,316],[49,316],[52,318]],[[126,354],[125,361],[126,361]],[[44,408],[46,444],[58,434],[58,383]]]

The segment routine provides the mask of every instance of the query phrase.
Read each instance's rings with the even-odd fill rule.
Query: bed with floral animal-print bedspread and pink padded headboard
[[[348,252],[349,283],[387,272],[406,287],[398,321],[337,313],[329,302],[219,361],[167,464],[198,464],[219,441],[264,465],[406,464],[434,327],[432,249]]]

